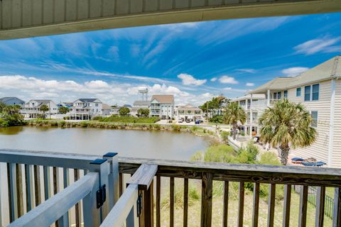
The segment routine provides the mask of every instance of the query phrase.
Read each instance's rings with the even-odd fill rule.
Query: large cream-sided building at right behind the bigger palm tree
[[[305,106],[313,117],[318,138],[293,155],[315,157],[329,167],[341,167],[341,56],[317,65],[296,77],[277,77],[249,94],[264,94],[266,106],[288,99]],[[251,111],[254,107],[251,107]]]

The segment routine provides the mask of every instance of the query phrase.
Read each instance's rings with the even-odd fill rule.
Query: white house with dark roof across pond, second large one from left
[[[71,120],[90,120],[102,116],[103,104],[99,99],[77,99],[72,103],[68,113]]]

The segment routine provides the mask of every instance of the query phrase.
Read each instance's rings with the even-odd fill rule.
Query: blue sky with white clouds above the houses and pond
[[[341,13],[251,18],[0,40],[0,96],[178,104],[242,96],[341,53]]]

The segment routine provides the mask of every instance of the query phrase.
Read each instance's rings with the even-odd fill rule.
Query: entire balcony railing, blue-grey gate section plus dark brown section
[[[3,215],[0,223],[11,223],[11,226],[50,226],[55,223],[59,227],[75,223],[76,226],[148,227],[155,224],[159,227],[165,226],[165,221],[161,222],[163,215],[169,218],[166,226],[175,226],[175,218],[178,226],[175,187],[178,187],[179,180],[183,181],[183,226],[193,226],[188,221],[193,216],[189,209],[190,183],[193,180],[201,182],[200,226],[212,226],[212,222],[217,226],[217,219],[212,218],[215,182],[223,185],[221,226],[227,226],[229,211],[235,209],[237,226],[244,226],[246,221],[252,226],[264,226],[259,218],[263,184],[269,185],[266,226],[274,226],[278,218],[275,214],[278,184],[284,185],[282,226],[307,226],[309,186],[317,188],[314,226],[323,226],[325,221],[326,187],[335,189],[332,226],[341,226],[340,169],[117,158],[116,153],[99,157],[1,149],[0,162],[6,163],[7,170],[4,166],[0,170],[6,172],[9,192],[9,209],[0,212]],[[161,209],[161,192],[168,189],[164,187],[165,183],[169,185],[170,195],[168,214],[163,214]],[[238,184],[239,188],[236,206],[231,206],[229,196],[232,183]],[[249,197],[246,197],[245,186],[249,183],[253,185],[252,204],[251,199],[246,200]],[[295,220],[291,218],[295,212],[291,210],[292,185],[301,185],[298,219]],[[0,198],[6,195],[6,192],[2,193]],[[245,220],[249,204],[251,220]],[[4,208],[4,201],[0,201],[0,206]],[[1,219],[5,216],[9,216],[8,221]]]

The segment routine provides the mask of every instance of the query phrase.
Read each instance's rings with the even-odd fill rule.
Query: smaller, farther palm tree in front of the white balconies
[[[237,102],[229,103],[224,111],[224,123],[232,125],[233,127],[233,139],[237,136],[237,124],[238,121],[244,124],[247,121],[247,114],[245,113],[242,106],[239,106]]]

